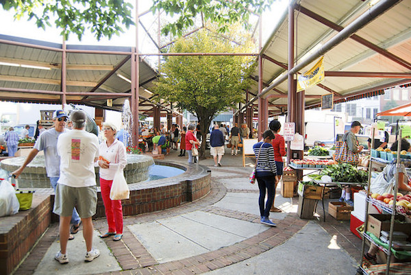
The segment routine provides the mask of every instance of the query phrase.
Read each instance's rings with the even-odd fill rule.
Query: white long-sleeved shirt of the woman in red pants
[[[118,139],[114,139],[114,143],[107,147],[107,141],[103,141],[99,145],[100,156],[103,156],[106,160],[110,161],[108,169],[100,167],[100,178],[104,180],[113,180],[116,174],[117,168],[124,169],[127,165],[127,154],[125,152],[124,144]],[[95,166],[98,166],[95,163]]]

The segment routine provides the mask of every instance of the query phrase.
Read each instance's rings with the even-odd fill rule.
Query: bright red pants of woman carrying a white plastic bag
[[[104,180],[100,178],[101,197],[103,198],[105,217],[108,222],[108,232],[116,232],[123,234],[123,206],[121,200],[110,199],[110,189],[112,180]]]

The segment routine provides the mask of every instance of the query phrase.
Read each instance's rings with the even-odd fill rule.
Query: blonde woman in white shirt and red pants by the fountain
[[[108,232],[100,237],[114,236],[114,241],[120,241],[123,237],[123,207],[121,200],[110,199],[110,190],[117,168],[124,169],[127,165],[127,158],[123,143],[116,139],[116,125],[106,122],[103,124],[103,131],[106,140],[100,143],[100,157],[97,164],[100,167],[101,197],[104,202]]]

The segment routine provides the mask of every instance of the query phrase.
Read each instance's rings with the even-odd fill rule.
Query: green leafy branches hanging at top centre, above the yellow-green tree
[[[219,24],[218,32],[227,32],[229,25],[242,23],[249,27],[251,14],[262,14],[271,7],[275,0],[153,0],[151,10],[164,10],[170,16],[177,15],[177,20],[166,24],[162,34],[178,34],[194,25],[196,16],[203,16],[205,21]]]

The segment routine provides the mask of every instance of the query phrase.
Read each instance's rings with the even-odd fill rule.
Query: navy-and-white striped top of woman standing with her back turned
[[[256,176],[275,176],[277,166],[275,165],[273,145],[259,142],[253,145],[253,150],[256,158],[258,158]]]

